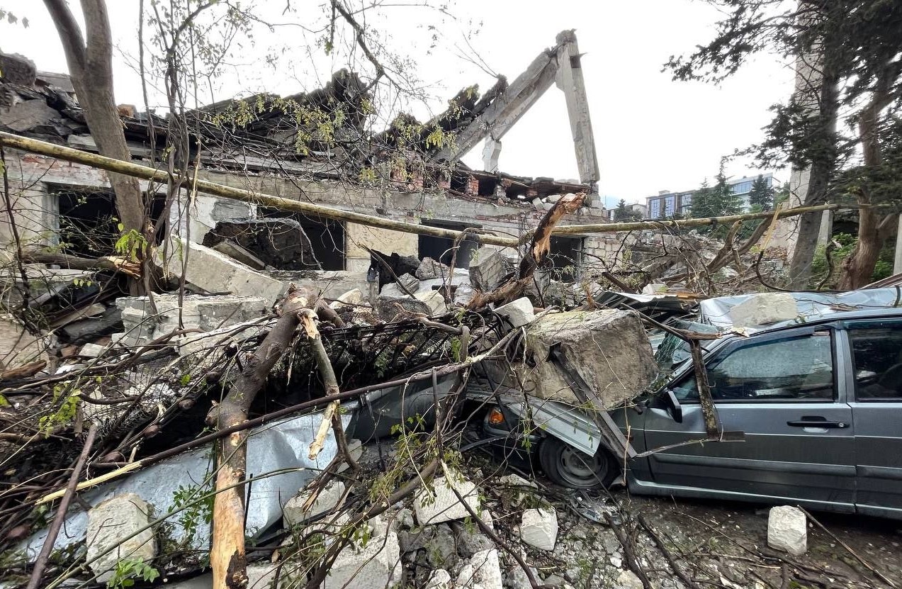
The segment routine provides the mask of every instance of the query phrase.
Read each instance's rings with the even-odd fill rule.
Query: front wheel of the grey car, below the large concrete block
[[[607,487],[617,476],[616,462],[607,450],[600,447],[595,456],[587,456],[557,437],[542,440],[538,462],[549,479],[571,489]]]

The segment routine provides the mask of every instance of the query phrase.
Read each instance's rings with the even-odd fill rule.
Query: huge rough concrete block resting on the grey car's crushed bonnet
[[[582,405],[571,388],[578,375],[583,391],[599,410],[610,410],[635,398],[658,373],[649,338],[630,311],[597,310],[552,313],[533,322],[526,332],[532,363],[515,364],[527,390],[541,399]],[[557,364],[557,349],[565,366]]]

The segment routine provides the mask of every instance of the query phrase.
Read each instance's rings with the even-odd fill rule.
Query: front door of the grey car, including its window
[[[654,454],[654,483],[686,495],[762,496],[853,511],[852,416],[844,387],[837,386],[843,371],[834,339],[833,329],[803,327],[736,338],[715,352],[706,365],[718,419],[724,431],[744,432],[745,441]],[[705,437],[693,371],[677,377],[671,390],[682,423],[650,408],[649,449]]]

